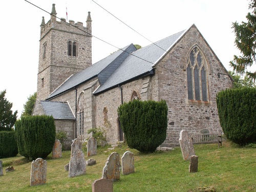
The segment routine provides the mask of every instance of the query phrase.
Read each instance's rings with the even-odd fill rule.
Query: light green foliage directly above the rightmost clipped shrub
[[[247,88],[256,88],[256,83],[253,81],[251,78],[248,78],[245,76],[242,78],[240,75],[236,75],[233,71],[228,71],[228,73],[231,75],[233,78],[233,88],[242,88],[242,87],[247,87]]]

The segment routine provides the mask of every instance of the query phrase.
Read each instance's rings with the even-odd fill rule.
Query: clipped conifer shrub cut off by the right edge
[[[256,89],[228,89],[217,94],[220,124],[227,139],[239,145],[256,142]]]

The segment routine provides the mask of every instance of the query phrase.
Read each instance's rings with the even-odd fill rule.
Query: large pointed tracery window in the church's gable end
[[[188,100],[209,101],[207,65],[202,52],[195,47],[187,59],[187,97]]]

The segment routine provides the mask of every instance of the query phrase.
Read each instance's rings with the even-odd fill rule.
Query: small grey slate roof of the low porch
[[[74,114],[67,102],[44,100],[40,102],[46,115],[52,115],[54,119],[75,120]]]

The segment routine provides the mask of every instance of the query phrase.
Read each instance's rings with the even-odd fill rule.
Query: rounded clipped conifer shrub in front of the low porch
[[[46,158],[55,142],[56,128],[52,116],[25,116],[15,124],[18,152],[35,160]]]

